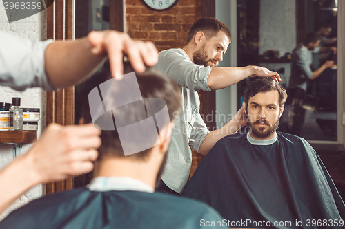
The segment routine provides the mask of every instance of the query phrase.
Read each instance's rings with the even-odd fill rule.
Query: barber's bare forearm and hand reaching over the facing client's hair
[[[212,90],[222,89],[234,85],[248,77],[272,77],[277,83],[281,81],[277,72],[272,72],[265,67],[213,67],[208,75],[208,87]]]

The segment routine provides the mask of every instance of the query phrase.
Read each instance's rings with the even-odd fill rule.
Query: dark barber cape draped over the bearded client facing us
[[[206,202],[237,228],[343,228],[344,202],[324,164],[306,140],[286,133],[270,145],[251,144],[246,133],[222,138],[182,195]]]

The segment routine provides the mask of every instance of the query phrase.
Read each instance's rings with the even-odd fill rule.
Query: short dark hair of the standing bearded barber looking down
[[[184,46],[188,45],[188,43],[192,41],[195,34],[197,34],[199,31],[204,32],[206,39],[217,36],[218,32],[223,31],[231,41],[231,32],[224,23],[212,17],[202,17],[201,19],[195,21],[192,27],[190,27]]]

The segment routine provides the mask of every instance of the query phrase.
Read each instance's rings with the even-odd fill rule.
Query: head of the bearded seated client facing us
[[[287,97],[282,85],[266,78],[253,80],[246,87],[243,106],[252,138],[257,140],[273,138]]]

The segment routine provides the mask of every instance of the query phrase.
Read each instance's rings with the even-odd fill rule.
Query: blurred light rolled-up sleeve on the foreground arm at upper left
[[[55,90],[46,74],[44,54],[52,40],[32,42],[0,31],[0,85]]]

